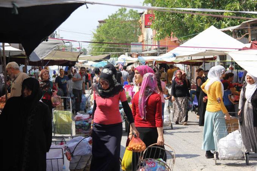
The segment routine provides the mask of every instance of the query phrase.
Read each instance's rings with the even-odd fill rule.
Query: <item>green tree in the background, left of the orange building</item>
[[[140,32],[139,24],[140,14],[135,10],[120,8],[112,15],[105,19],[104,23],[100,23],[99,27],[93,33],[94,42],[114,42],[130,44],[137,42]],[[114,48],[110,48],[114,47]],[[120,44],[90,44],[92,55],[107,54],[116,52],[112,57],[117,57],[125,52],[130,52],[130,45]],[[119,53],[117,53],[119,52]]]

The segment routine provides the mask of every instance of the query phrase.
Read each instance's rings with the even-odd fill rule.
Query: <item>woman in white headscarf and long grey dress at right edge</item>
[[[257,152],[257,77],[250,73],[245,76],[246,85],[243,86],[239,112],[242,126],[242,138],[246,154]]]

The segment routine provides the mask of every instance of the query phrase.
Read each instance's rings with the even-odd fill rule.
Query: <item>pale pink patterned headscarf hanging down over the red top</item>
[[[142,119],[146,119],[146,101],[148,97],[154,92],[158,93],[156,76],[153,73],[146,73],[144,74],[143,82],[139,91],[138,107]]]

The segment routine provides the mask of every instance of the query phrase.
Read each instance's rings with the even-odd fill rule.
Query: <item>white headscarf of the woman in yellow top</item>
[[[220,84],[221,84],[221,91],[222,91],[222,96],[223,96],[224,87],[223,87],[223,84],[220,81],[220,77],[223,73],[225,73],[225,68],[223,66],[221,66],[221,65],[213,66],[208,72],[209,81],[206,83],[204,89],[206,91],[208,91],[210,86],[212,85],[212,83],[214,83],[215,81],[219,81]]]

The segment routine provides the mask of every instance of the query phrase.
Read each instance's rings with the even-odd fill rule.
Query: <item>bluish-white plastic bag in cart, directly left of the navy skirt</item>
[[[70,149],[71,154],[73,153],[73,156],[92,154],[92,145],[89,143],[89,141],[92,140],[92,137],[83,138],[85,137],[76,137],[67,142],[68,148]],[[83,140],[79,142],[81,139]]]

